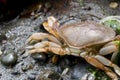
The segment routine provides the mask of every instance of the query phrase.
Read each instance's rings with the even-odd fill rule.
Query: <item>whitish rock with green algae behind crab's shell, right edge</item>
[[[115,30],[116,35],[120,34],[120,16],[109,16],[103,18],[100,23]]]

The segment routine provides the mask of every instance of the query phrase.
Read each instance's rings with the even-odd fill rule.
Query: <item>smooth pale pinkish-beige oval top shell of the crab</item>
[[[115,37],[115,31],[96,22],[77,22],[56,28],[59,36],[69,47],[81,49],[102,44]]]

